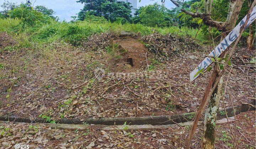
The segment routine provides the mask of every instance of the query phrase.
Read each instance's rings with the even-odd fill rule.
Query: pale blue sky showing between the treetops
[[[10,2],[15,2],[20,4],[21,2],[26,2],[26,0],[8,0]],[[76,13],[83,8],[84,5],[81,3],[77,3],[76,0],[30,0],[34,6],[43,5],[48,7],[49,9],[54,10],[55,16],[58,16],[60,20],[71,21],[71,16],[76,16]],[[145,6],[149,4],[154,4],[155,2],[161,4],[161,0],[142,0],[139,2],[137,0],[137,7]],[[0,5],[4,3],[4,0],[0,0]],[[170,0],[165,1],[165,6],[168,9],[174,8],[175,5],[172,4]],[[2,8],[0,8],[0,11]]]

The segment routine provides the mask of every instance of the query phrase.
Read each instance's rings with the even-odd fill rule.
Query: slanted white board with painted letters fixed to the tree
[[[246,15],[247,16],[247,15]],[[236,38],[238,38],[239,36],[239,32],[240,32],[240,28],[245,24],[246,21],[246,16],[238,23],[238,25],[233,29],[233,31],[231,31],[223,40],[222,42],[220,42],[219,45],[217,45],[215,47],[215,51],[216,54],[214,53],[214,50],[209,54],[209,56],[213,56],[213,57],[218,57],[220,56],[220,54],[222,54],[222,52],[228,48],[228,46],[233,43],[235,41]],[[245,28],[247,28],[254,20],[255,20],[255,6],[251,12],[249,21],[246,25]],[[194,69],[191,73],[190,73],[190,81],[194,81],[194,79],[196,79],[197,77],[199,77],[201,75],[201,73],[199,74],[199,71],[202,72],[206,70],[206,68],[212,64],[212,60],[209,57],[206,57],[199,65],[196,69]]]

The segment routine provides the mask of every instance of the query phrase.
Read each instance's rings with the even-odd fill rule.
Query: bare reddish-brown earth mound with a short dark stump
[[[109,64],[114,72],[133,72],[145,65],[146,47],[132,37],[117,38],[111,47]]]

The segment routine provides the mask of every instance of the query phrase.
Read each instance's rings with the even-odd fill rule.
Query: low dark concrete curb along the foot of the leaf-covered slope
[[[251,101],[250,104],[255,105],[255,100]],[[254,107],[249,105],[240,105],[235,106],[235,114],[240,114],[241,112],[252,111],[255,110]],[[228,117],[234,116],[233,108],[226,108]],[[181,115],[166,115],[166,116],[145,116],[145,117],[116,117],[116,118],[100,118],[100,119],[92,119],[88,118],[84,121],[79,119],[67,119],[64,118],[59,120],[59,124],[84,124],[85,122],[88,124],[94,125],[123,125],[125,122],[127,125],[171,125],[181,122],[192,121],[194,118],[195,112],[181,114]],[[224,109],[219,109],[217,114],[218,119],[226,117]],[[16,116],[0,116],[0,121],[12,121],[12,122],[25,122],[31,123],[30,118],[22,118]],[[37,118],[33,122],[36,123],[48,123],[43,119]]]

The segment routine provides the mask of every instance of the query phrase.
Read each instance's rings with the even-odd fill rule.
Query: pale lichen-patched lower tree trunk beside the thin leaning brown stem
[[[210,97],[209,106],[204,117],[203,149],[214,149],[215,121],[219,110],[220,98],[222,97],[222,84],[223,78],[220,79],[218,86]]]

